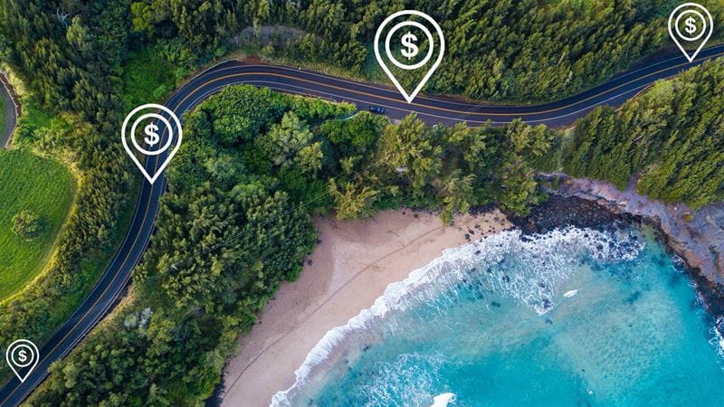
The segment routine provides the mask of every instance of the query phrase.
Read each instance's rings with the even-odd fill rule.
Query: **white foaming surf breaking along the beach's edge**
[[[443,251],[443,256],[414,270],[407,279],[387,286],[371,308],[350,318],[347,325],[329,330],[295,372],[296,382],[274,394],[271,405],[294,405],[300,389],[334,364],[335,355],[343,352],[350,336],[371,339],[370,332],[392,311],[434,300],[441,302],[440,312],[444,312],[445,300],[457,299],[458,291],[451,288],[464,283],[510,298],[543,315],[556,306],[558,293],[585,256],[604,262],[633,260],[643,245],[643,241],[611,232],[567,228],[532,237],[519,231],[500,232]],[[394,330],[394,326],[387,329]]]

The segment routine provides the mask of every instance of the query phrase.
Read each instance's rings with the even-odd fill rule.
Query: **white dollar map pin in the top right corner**
[[[694,62],[712,33],[714,19],[703,5],[685,3],[669,15],[669,35],[689,62]]]

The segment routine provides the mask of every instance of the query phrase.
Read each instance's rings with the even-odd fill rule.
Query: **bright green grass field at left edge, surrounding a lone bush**
[[[74,185],[60,163],[24,150],[0,150],[0,300],[43,270],[71,207]],[[30,241],[12,231],[13,216],[24,209],[37,213],[43,227]]]

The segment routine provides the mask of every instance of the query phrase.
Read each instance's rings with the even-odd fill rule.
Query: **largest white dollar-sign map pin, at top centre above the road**
[[[395,20],[395,18],[400,17],[402,15],[417,15],[420,17],[423,17],[428,23],[432,24],[435,31],[437,32],[437,36],[440,39],[440,52],[438,52],[437,59],[435,62],[433,62],[433,66],[425,73],[423,80],[420,81],[420,83],[417,85],[416,88],[411,93],[407,93],[405,88],[400,84],[400,82],[395,78],[395,75],[392,74],[392,71],[387,67],[387,64],[385,63],[385,59],[382,58],[382,54],[379,50],[379,43],[380,39],[382,37],[382,33],[385,31],[386,25],[389,24],[391,21]],[[390,38],[392,38],[392,34],[395,33],[398,29],[407,26],[412,25],[416,28],[419,28],[422,30],[425,35],[427,36],[427,41],[429,43],[428,52],[425,55],[423,61],[417,62],[414,65],[404,65],[399,62],[397,62],[392,55],[392,52],[390,52]],[[390,31],[387,33],[386,41],[385,41],[385,51],[387,58],[395,64],[398,68],[404,69],[406,71],[415,70],[418,68],[423,67],[423,65],[427,62],[429,62],[432,59],[433,51],[434,51],[434,42],[433,42],[433,34],[430,33],[430,30],[427,29],[423,24],[419,24],[414,21],[407,21],[403,23],[396,24]],[[375,34],[375,56],[377,59],[377,63],[382,67],[383,71],[387,74],[387,76],[392,80],[392,83],[395,84],[395,87],[397,90],[402,93],[402,96],[407,100],[407,103],[412,103],[415,96],[417,96],[418,93],[420,93],[420,90],[423,90],[424,84],[427,83],[427,80],[430,80],[430,77],[433,76],[433,72],[437,69],[438,66],[440,66],[440,62],[443,62],[443,56],[445,54],[445,37],[443,35],[443,30],[440,28],[440,24],[437,24],[436,21],[433,20],[433,17],[424,14],[423,12],[419,12],[416,10],[403,10],[399,11],[395,14],[390,15],[385,19],[385,21],[382,22],[382,24],[379,24],[379,27],[377,28],[377,33]]]

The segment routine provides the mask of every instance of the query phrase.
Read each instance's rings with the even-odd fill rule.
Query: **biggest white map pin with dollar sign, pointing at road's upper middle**
[[[414,16],[421,17],[418,21],[413,20]],[[394,21],[397,24],[387,29]],[[433,30],[431,30],[431,27]],[[433,34],[434,31],[434,34]],[[395,36],[395,33],[401,35]],[[382,43],[383,35],[385,35],[385,53],[380,52],[380,43]],[[393,43],[393,38],[398,38]],[[395,50],[399,50],[406,61],[398,61],[395,58]],[[426,51],[424,51],[426,48]],[[434,54],[437,53],[437,56]],[[433,17],[416,10],[403,10],[388,16],[382,24],[377,28],[375,34],[375,56],[382,70],[395,84],[395,88],[402,93],[402,96],[408,103],[412,103],[415,96],[423,90],[424,84],[433,72],[440,66],[445,53],[445,37],[440,25],[433,20]],[[417,58],[415,58],[417,57]],[[422,80],[420,80],[414,90],[408,92],[405,87],[395,77],[390,69],[389,63],[403,71],[416,71],[424,69],[426,72]]]

